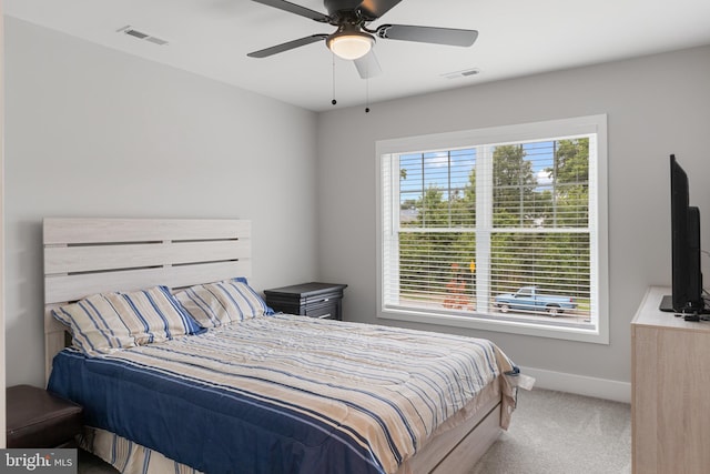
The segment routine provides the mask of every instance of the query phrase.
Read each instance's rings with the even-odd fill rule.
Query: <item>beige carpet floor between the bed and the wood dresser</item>
[[[521,390],[507,432],[470,474],[627,474],[631,407],[626,403]]]

